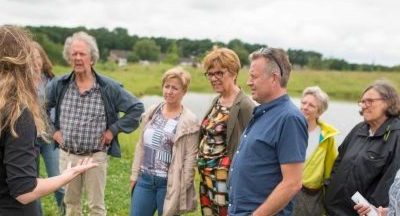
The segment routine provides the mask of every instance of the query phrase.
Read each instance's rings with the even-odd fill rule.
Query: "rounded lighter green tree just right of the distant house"
[[[160,59],[160,47],[152,39],[143,38],[133,46],[133,52],[140,60],[158,61]]]

